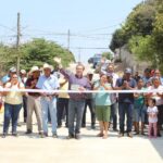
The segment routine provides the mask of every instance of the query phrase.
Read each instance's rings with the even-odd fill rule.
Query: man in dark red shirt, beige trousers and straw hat
[[[33,66],[30,70],[32,77],[29,77],[26,82],[27,89],[36,89],[36,84],[40,76],[40,70],[38,66]],[[41,106],[40,106],[40,95],[38,92],[28,92],[27,97],[27,131],[26,134],[33,133],[33,113],[35,112],[37,124],[38,124],[38,133],[42,136],[42,121],[41,121]]]

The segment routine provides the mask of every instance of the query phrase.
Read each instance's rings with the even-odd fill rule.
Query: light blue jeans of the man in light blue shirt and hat
[[[45,97],[41,98],[41,109],[42,109],[42,127],[43,133],[48,134],[48,110],[51,117],[52,124],[52,134],[57,134],[57,98],[53,97],[52,99],[46,99]]]

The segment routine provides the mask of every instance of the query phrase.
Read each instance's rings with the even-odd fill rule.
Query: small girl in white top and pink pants
[[[158,123],[158,108],[155,106],[155,99],[148,100],[148,121],[149,121],[149,129],[148,135],[149,138],[152,137],[152,128],[154,130],[154,138],[156,138],[156,123]]]

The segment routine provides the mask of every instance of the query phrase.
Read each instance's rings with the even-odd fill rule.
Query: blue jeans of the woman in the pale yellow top
[[[8,134],[11,120],[12,120],[12,133],[16,133],[17,120],[21,109],[22,104],[4,103],[3,134]]]

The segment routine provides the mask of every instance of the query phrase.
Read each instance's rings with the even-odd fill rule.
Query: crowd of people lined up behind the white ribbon
[[[99,78],[96,78],[93,72],[84,75],[85,66],[82,63],[78,63],[75,73],[72,73],[62,67],[61,59],[54,58],[54,62],[58,64],[57,70],[45,63],[41,70],[33,66],[28,73],[21,70],[17,75],[16,68],[11,67],[9,74],[1,78],[1,88],[11,89],[0,92],[3,97],[1,103],[3,100],[4,105],[3,138],[9,135],[10,122],[12,122],[12,135],[17,136],[22,108],[24,123],[26,123],[25,134],[33,133],[35,112],[38,134],[41,138],[49,136],[49,123],[51,123],[52,137],[58,138],[58,129],[65,118],[65,127],[68,129],[67,139],[80,139],[80,128],[86,127],[87,124],[87,109],[90,110],[92,129],[97,127],[96,120],[99,121],[100,131],[97,137],[106,139],[111,127],[113,131],[118,133],[118,137],[123,137],[125,133],[130,138],[133,133],[146,135],[146,127],[148,127],[149,138],[161,137],[163,77],[159,70],[146,68],[142,75],[138,72],[133,75],[131,70],[127,67],[123,76],[118,76],[114,72],[114,63],[102,62]],[[17,89],[34,89],[34,91],[16,91]],[[38,89],[41,91],[36,91]],[[67,90],[74,92],[67,93]],[[95,90],[95,92],[86,92],[86,90]],[[109,93],[108,90],[145,91]]]

